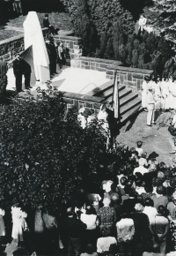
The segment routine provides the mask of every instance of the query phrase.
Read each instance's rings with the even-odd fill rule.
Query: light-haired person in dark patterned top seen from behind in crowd
[[[110,207],[111,200],[105,198],[103,200],[104,207],[100,207],[97,211],[97,216],[99,218],[99,228],[100,231],[106,227],[106,236],[112,234],[113,226],[116,221],[116,213],[114,207]]]

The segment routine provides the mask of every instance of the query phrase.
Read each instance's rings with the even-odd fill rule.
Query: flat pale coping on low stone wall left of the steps
[[[100,98],[96,96],[88,96],[84,94],[69,93],[64,91],[59,91],[59,92],[61,92],[62,97],[64,98],[70,98],[70,99],[76,99],[80,101],[94,102],[94,103],[101,103],[105,101],[105,98]]]

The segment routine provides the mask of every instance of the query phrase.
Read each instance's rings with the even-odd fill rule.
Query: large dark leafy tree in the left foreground
[[[15,98],[0,112],[0,201],[57,210],[99,166],[105,137],[94,122],[82,129],[76,109],[65,120],[60,94]]]

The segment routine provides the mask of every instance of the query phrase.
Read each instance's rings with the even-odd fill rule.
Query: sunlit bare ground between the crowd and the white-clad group
[[[172,163],[173,154],[172,135],[168,132],[171,112],[156,112],[156,125],[147,126],[147,112],[143,111],[132,122],[128,122],[121,128],[117,141],[128,144],[128,147],[136,147],[136,141],[143,141],[143,149],[148,153],[158,153],[158,161]]]

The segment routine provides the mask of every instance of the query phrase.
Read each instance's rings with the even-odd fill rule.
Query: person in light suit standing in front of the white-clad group
[[[149,90],[149,93],[147,95],[147,102],[148,102],[148,106],[147,106],[147,109],[148,109],[148,113],[147,113],[147,125],[148,126],[151,126],[151,123],[152,124],[155,124],[155,121],[154,121],[154,110],[155,110],[155,99],[154,99],[154,94],[155,94],[155,89],[150,89]]]

